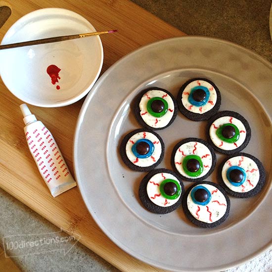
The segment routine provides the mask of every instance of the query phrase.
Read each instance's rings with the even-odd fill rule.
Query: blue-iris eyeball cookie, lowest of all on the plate
[[[186,217],[193,224],[198,227],[211,228],[226,220],[230,201],[220,185],[203,181],[190,186],[185,191],[182,207]]]

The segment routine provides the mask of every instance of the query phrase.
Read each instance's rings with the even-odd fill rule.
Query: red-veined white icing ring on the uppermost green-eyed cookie
[[[162,97],[168,103],[168,111],[162,117],[155,117],[147,111],[147,102],[149,99],[153,97]],[[169,122],[171,121],[174,115],[175,105],[170,95],[167,94],[166,92],[160,91],[160,90],[151,90],[151,91],[147,91],[142,96],[139,103],[139,108],[140,108],[140,115],[142,120],[149,127],[164,128],[165,126],[169,124]]]

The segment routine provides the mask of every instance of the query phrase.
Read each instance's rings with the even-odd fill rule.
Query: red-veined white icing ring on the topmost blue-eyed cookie
[[[207,104],[200,106],[200,107],[192,105],[188,100],[191,90],[197,86],[206,87],[210,91],[210,97],[209,97]],[[217,101],[217,93],[215,91],[215,88],[209,82],[204,81],[204,80],[196,80],[196,81],[190,82],[185,87],[184,91],[182,92],[182,97],[181,97],[181,102],[182,102],[183,106],[188,111],[191,111],[193,113],[198,113],[198,114],[203,114],[203,113],[206,113],[209,110],[211,110],[215,106],[216,101]]]

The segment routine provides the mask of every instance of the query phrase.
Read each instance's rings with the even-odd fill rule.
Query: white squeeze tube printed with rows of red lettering
[[[20,108],[29,150],[52,196],[75,187],[77,184],[51,133],[41,121],[37,121],[26,104],[20,105]]]

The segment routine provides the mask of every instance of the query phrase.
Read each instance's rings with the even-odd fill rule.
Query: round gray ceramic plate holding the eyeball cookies
[[[206,77],[222,93],[221,110],[234,110],[250,123],[252,138],[244,152],[259,158],[267,171],[260,194],[230,198],[227,220],[214,229],[193,226],[181,208],[156,215],[139,202],[144,173],[122,162],[120,139],[139,128],[131,103],[142,89],[157,86],[174,95],[193,77]],[[238,266],[272,244],[272,65],[226,41],[181,37],[144,46],[114,64],[92,88],[80,112],[74,138],[76,179],[99,227],[118,246],[150,265],[173,271],[222,271]],[[180,113],[159,131],[166,154],[160,167],[171,169],[174,145],[185,137],[205,139],[206,122]],[[224,159],[217,154],[218,161]],[[216,172],[216,171],[215,171]],[[207,180],[216,181],[216,173]],[[185,188],[191,183],[184,182]]]

